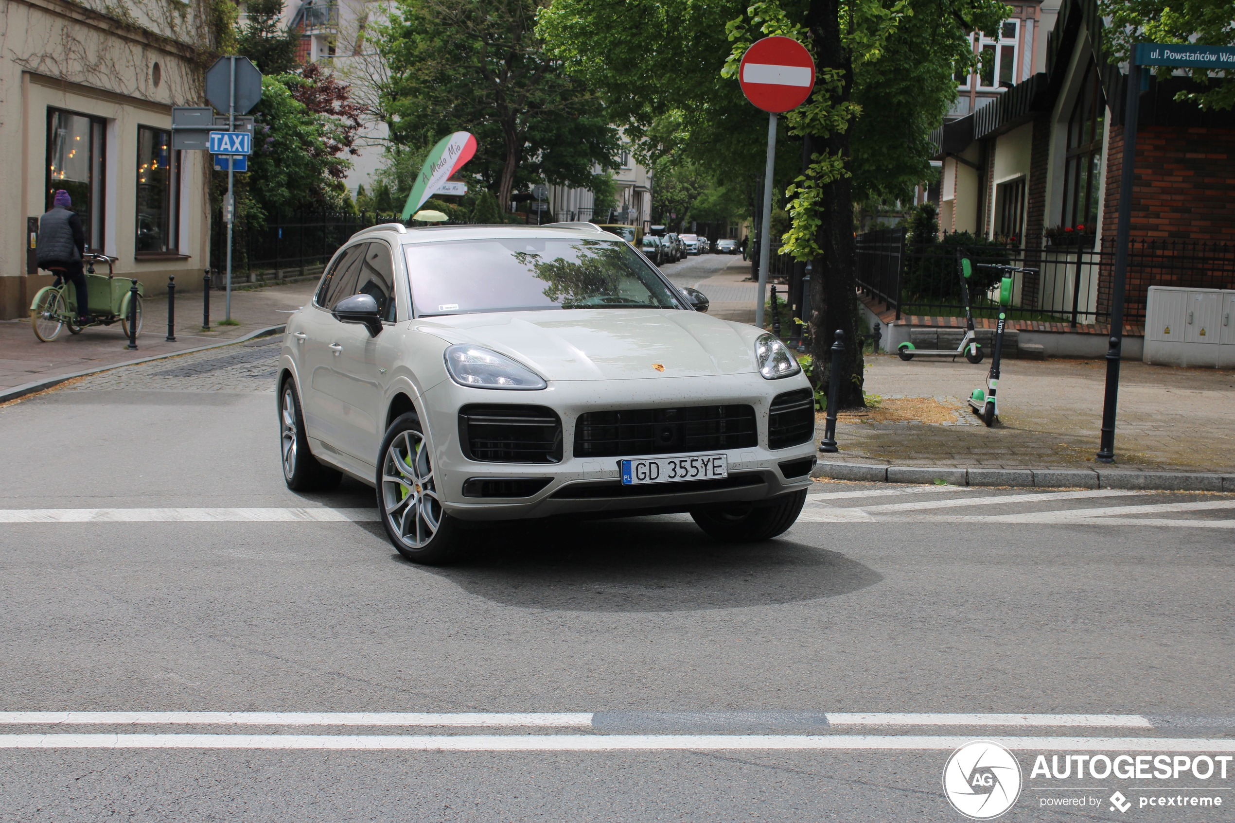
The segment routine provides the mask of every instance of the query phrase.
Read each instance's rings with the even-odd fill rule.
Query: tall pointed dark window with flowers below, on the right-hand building
[[[1062,225],[1093,234],[1098,227],[1098,200],[1102,197],[1102,132],[1107,118],[1107,99],[1093,63],[1086,69],[1068,120],[1067,163],[1063,167]],[[1084,228],[1079,228],[1079,227]]]

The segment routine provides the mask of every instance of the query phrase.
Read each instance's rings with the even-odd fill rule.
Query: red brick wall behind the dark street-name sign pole
[[[1115,236],[1124,127],[1112,126],[1102,233]],[[1235,130],[1142,126],[1136,133],[1134,239],[1231,242]]]

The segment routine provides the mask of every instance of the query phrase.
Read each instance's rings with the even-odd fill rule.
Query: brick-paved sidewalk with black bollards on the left
[[[137,350],[125,348],[128,338],[120,323],[83,329],[69,334],[67,328],[51,343],[41,343],[30,326],[30,317],[0,322],[0,392],[40,380],[77,374],[107,365],[128,363],[161,354],[173,354],[212,343],[237,339],[259,328],[282,326],[285,312],[304,306],[317,284],[295,283],[253,290],[232,291],[232,318],[240,326],[217,326],[225,317],[226,295],[210,292],[209,332],[201,331],[201,292],[177,295],[175,342],[167,337],[167,296],[142,301],[142,334]]]

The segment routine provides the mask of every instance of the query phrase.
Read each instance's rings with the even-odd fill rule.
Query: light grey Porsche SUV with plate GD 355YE
[[[593,226],[362,230],[288,315],[284,480],[373,486],[415,563],[485,521],[687,512],[716,540],[777,537],[811,485],[813,389],[784,343],[704,307]]]

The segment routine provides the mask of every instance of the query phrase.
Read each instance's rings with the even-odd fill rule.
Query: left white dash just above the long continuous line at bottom
[[[590,727],[592,712],[0,712],[0,724]]]

